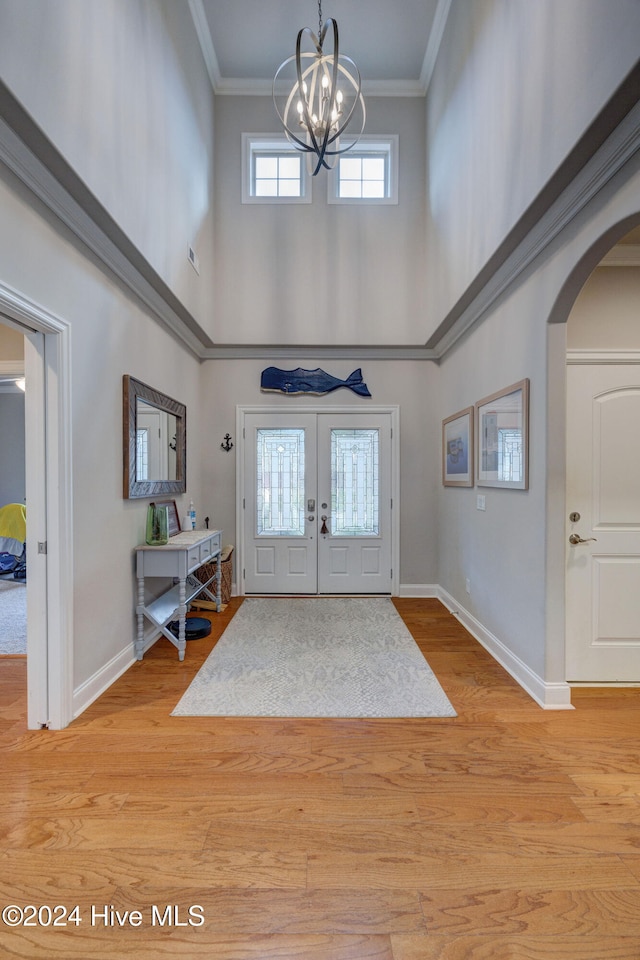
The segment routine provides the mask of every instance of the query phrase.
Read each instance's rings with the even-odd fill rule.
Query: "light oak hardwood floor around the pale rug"
[[[28,732],[3,659],[0,906],[35,925],[0,921],[2,960],[638,960],[640,690],[543,711],[396,605],[457,718],[172,718],[212,637]]]

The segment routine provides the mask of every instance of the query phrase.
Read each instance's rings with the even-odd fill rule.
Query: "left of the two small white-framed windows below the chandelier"
[[[309,203],[304,157],[286,137],[242,135],[242,202]]]

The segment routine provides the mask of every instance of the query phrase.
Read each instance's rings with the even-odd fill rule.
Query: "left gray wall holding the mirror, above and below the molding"
[[[187,4],[0,0],[3,80],[129,238],[206,325],[213,93]],[[148,501],[122,497],[122,376],[187,406],[200,497],[198,360],[0,166],[0,281],[71,325],[74,687],[135,635],[133,548]]]

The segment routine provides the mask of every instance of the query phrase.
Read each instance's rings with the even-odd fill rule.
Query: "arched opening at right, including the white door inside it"
[[[635,218],[637,224],[637,217]],[[627,230],[624,227],[627,227]],[[640,684],[640,228],[625,221],[568,311],[565,676]]]

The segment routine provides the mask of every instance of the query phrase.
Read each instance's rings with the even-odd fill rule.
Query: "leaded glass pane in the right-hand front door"
[[[331,535],[377,537],[379,432],[331,430]]]

